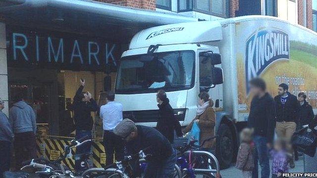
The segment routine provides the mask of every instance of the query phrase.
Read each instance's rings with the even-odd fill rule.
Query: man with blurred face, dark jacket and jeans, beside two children
[[[258,178],[258,161],[261,166],[262,178],[269,178],[269,161],[267,147],[271,147],[275,127],[274,100],[266,92],[263,79],[255,78],[250,81],[250,93],[254,95],[251,101],[248,127],[254,129],[255,168],[253,178]]]

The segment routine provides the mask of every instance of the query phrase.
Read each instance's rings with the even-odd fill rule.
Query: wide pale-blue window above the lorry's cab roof
[[[228,0],[178,0],[178,12],[197,11],[226,17]]]

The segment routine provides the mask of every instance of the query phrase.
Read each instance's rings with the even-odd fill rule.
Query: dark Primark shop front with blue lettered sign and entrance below
[[[6,26],[6,39],[9,107],[14,94],[23,92],[37,122],[46,124],[50,133],[66,136],[63,114],[80,79],[96,99],[113,86],[122,44],[11,25]]]

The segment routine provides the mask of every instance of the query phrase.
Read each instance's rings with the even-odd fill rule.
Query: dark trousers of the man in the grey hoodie
[[[20,170],[22,162],[36,158],[36,138],[34,132],[14,134],[15,168]]]

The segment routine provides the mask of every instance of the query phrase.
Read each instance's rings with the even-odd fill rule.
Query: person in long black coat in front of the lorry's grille
[[[174,142],[174,130],[177,136],[182,136],[182,128],[178,120],[174,116],[172,107],[169,104],[169,99],[164,90],[159,90],[157,93],[157,101],[159,107],[159,120],[157,124],[158,131],[163,134],[170,143]]]

